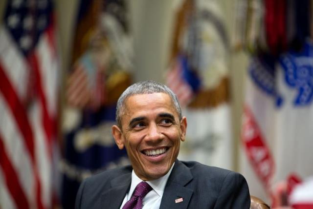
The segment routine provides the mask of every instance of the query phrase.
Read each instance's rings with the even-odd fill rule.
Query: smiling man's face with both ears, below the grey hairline
[[[113,125],[117,146],[126,148],[136,175],[144,180],[164,176],[185,140],[186,118],[179,115],[165,93],[136,94],[126,100],[121,129]]]

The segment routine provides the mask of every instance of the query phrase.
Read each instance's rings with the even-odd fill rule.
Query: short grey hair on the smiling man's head
[[[181,115],[181,109],[180,109],[178,98],[176,94],[169,87],[167,87],[164,84],[155,82],[155,81],[141,81],[141,82],[138,82],[129,86],[122,93],[122,95],[118,98],[117,105],[116,105],[116,116],[115,116],[117,125],[119,127],[122,127],[121,119],[125,111],[125,102],[127,98],[135,94],[153,94],[153,93],[165,93],[169,95],[179,115],[179,120],[181,120],[182,115]]]

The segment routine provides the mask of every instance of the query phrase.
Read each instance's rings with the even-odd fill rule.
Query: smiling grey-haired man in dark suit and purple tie
[[[249,209],[245,178],[239,173],[177,159],[187,120],[176,95],[165,85],[131,85],[116,107],[116,145],[132,166],[85,180],[76,209]]]

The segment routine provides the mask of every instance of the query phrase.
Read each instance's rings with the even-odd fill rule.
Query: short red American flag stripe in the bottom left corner
[[[2,137],[0,136],[0,166],[4,172],[6,186],[19,209],[28,209],[29,205],[24,191],[21,187],[20,180],[8,155],[5,151]]]

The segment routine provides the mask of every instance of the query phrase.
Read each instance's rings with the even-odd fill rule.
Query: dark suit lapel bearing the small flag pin
[[[186,209],[193,190],[185,185],[193,179],[188,167],[179,160],[175,162],[172,173],[166,183],[160,209]],[[181,200],[176,203],[175,200]]]

